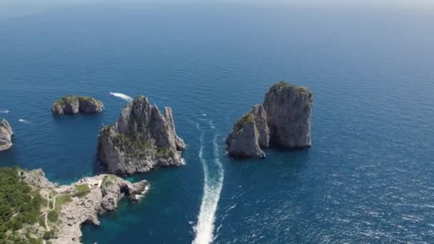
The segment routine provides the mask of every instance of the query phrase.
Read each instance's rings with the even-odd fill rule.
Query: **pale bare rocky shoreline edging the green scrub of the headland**
[[[86,177],[71,185],[56,185],[45,178],[41,169],[19,171],[25,183],[39,190],[48,205],[43,208],[44,225],[36,224],[36,233],[50,243],[81,243],[81,225],[99,225],[99,215],[116,210],[118,200],[126,196],[137,202],[149,190],[147,181],[130,183],[114,175]],[[51,213],[56,214],[51,214]],[[50,215],[56,215],[53,220]],[[44,234],[43,234],[44,233]]]

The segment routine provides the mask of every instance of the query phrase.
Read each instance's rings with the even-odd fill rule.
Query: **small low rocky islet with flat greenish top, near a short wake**
[[[89,96],[64,96],[51,106],[51,113],[76,114],[99,113],[103,111],[104,104]]]

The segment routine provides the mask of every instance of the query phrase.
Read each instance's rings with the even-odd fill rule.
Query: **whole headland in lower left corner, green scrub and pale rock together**
[[[104,174],[59,186],[40,169],[20,168],[0,168],[0,183],[5,243],[80,243],[83,223],[99,225],[98,215],[115,210],[123,195],[136,202],[149,188]]]

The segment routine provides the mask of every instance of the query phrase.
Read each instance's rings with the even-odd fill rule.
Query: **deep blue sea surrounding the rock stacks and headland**
[[[84,225],[84,243],[433,243],[434,11],[99,4],[0,21],[0,166],[96,173],[122,98],[170,106],[185,166]],[[313,92],[312,147],[233,160],[224,139],[276,81]],[[61,96],[105,111],[51,116]]]

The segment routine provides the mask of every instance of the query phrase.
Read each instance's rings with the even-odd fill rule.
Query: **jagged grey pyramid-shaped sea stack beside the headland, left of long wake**
[[[103,126],[97,156],[104,171],[118,175],[183,164],[186,147],[176,136],[171,108],[163,115],[148,98],[138,96],[123,108],[118,121]]]

